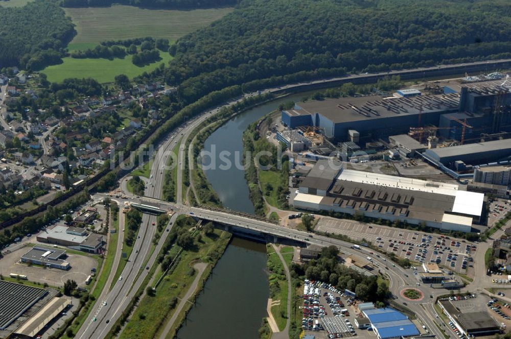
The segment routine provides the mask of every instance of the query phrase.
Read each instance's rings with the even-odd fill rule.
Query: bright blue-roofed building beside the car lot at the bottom
[[[378,339],[398,339],[420,334],[408,317],[395,309],[365,309],[362,313],[369,319]]]

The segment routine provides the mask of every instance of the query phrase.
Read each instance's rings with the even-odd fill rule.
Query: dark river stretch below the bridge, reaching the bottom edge
[[[257,339],[267,316],[266,260],[264,244],[233,238],[177,337]]]

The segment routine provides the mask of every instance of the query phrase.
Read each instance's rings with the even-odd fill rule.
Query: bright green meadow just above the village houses
[[[66,78],[94,78],[100,83],[113,82],[115,76],[125,74],[128,78],[141,75],[158,67],[161,63],[167,64],[172,60],[168,53],[160,53],[161,60],[144,67],[138,67],[131,62],[131,57],[124,59],[74,59],[64,58],[60,65],[51,65],[41,72],[48,76],[51,82],[62,82]]]

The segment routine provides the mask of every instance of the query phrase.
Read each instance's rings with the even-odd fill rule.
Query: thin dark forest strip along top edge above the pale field
[[[62,7],[104,7],[113,4],[130,5],[142,8],[212,8],[233,6],[237,0],[62,0]]]

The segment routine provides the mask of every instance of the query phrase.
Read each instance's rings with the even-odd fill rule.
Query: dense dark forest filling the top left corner
[[[53,0],[24,7],[0,6],[0,68],[38,70],[61,62],[62,49],[75,35],[71,19]]]

